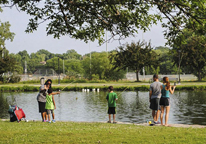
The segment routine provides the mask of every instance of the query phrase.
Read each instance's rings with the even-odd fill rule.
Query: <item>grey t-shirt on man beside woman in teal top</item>
[[[161,98],[161,82],[155,81],[150,85],[150,90],[152,91],[151,99]]]

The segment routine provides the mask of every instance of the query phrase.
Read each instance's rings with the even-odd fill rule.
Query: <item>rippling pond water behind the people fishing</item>
[[[36,101],[37,92],[1,93],[0,118],[9,119],[9,104],[23,108],[28,120],[41,120]],[[107,92],[61,92],[55,95],[57,121],[107,121]],[[117,92],[116,120],[145,123],[152,120],[148,92]],[[170,124],[206,125],[206,92],[176,91],[171,95]]]

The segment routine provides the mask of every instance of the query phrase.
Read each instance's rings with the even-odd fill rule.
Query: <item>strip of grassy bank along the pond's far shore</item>
[[[82,89],[93,89],[99,88],[101,91],[106,91],[108,86],[113,85],[115,91],[148,91],[149,83],[75,83],[75,84],[60,84],[53,85],[53,89],[64,90],[64,91],[81,91]],[[8,85],[0,85],[0,92],[29,92],[29,91],[38,91],[39,84],[8,84]],[[206,90],[206,83],[198,84],[198,83],[186,83],[177,85],[176,90]]]

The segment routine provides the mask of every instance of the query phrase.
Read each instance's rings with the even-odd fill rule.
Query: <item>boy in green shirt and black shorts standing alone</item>
[[[115,114],[116,114],[116,100],[117,98],[117,94],[115,92],[113,92],[113,86],[109,87],[109,93],[107,94],[107,102],[108,102],[108,114],[109,114],[109,121],[108,123],[111,123],[111,114],[113,114],[113,123],[117,123],[115,121]]]

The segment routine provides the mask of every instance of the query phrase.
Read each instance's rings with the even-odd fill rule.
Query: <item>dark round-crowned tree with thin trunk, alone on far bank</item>
[[[138,73],[143,67],[157,65],[157,54],[152,51],[151,43],[137,42],[120,46],[115,54],[109,56],[111,64],[119,70],[132,69],[136,72],[137,81]]]

